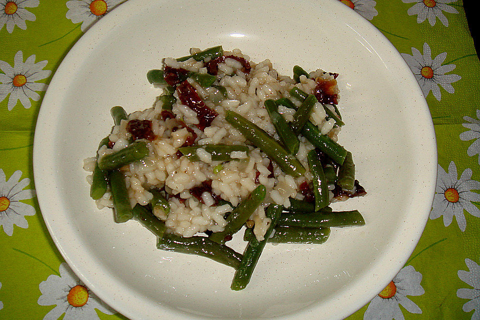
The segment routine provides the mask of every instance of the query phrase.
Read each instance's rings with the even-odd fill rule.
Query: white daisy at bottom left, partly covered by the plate
[[[60,276],[51,274],[38,286],[41,292],[38,304],[56,305],[43,320],[56,320],[63,312],[64,320],[99,319],[95,308],[106,314],[116,313],[91,292],[65,262],[60,264],[59,271]]]

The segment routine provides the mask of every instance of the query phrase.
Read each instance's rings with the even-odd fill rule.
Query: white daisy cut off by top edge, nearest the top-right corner
[[[403,3],[412,3],[415,2],[413,6],[411,6],[407,13],[408,15],[416,16],[416,22],[421,23],[428,18],[428,22],[431,26],[435,25],[436,18],[443,23],[444,26],[448,26],[448,20],[443,15],[442,11],[448,13],[458,13],[458,11],[448,5],[446,3],[455,2],[456,0],[402,0]]]

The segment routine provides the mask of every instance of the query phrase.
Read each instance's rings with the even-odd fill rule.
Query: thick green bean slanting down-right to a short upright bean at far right
[[[320,133],[316,125],[307,121],[301,130],[301,134],[310,141],[311,144],[326,153],[333,161],[342,164],[346,156],[346,150],[338,143],[330,139],[327,135]]]

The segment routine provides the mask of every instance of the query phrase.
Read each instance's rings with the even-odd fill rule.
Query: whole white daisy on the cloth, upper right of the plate
[[[453,93],[455,90],[450,84],[451,82],[458,81],[461,76],[457,74],[445,74],[453,70],[455,64],[441,65],[446,58],[446,52],[442,52],[431,59],[431,51],[428,44],[423,43],[423,55],[416,48],[411,48],[411,53],[401,53],[403,59],[410,67],[411,71],[415,75],[418,84],[420,84],[421,90],[425,97],[431,91],[433,96],[440,101],[441,93],[438,84],[441,85],[448,93]]]

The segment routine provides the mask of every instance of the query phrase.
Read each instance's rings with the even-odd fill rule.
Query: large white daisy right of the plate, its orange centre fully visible
[[[465,169],[457,179],[456,165],[453,161],[448,165],[448,173],[438,165],[436,190],[430,211],[430,219],[443,215],[443,224],[450,225],[453,216],[460,230],[465,231],[465,209],[471,215],[480,217],[480,210],[471,201],[480,201],[480,194],[471,190],[480,190],[480,182],[471,179],[471,169]]]

